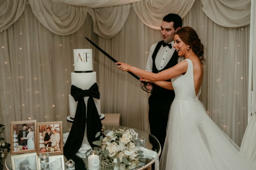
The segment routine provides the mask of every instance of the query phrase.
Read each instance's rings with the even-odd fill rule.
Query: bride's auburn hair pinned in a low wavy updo
[[[180,39],[194,51],[195,55],[200,59],[201,63],[205,62],[204,59],[204,45],[198,37],[196,31],[188,26],[182,27],[175,34],[177,34]]]

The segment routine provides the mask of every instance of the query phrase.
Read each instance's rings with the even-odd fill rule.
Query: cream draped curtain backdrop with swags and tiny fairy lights
[[[149,132],[149,94],[84,37],[144,69],[169,13],[179,14],[201,38],[207,62],[200,99],[240,145],[247,126],[250,0],[0,0],[2,135],[9,141],[12,121],[71,125],[68,94],[78,48],[93,49],[102,113],[121,113],[122,125]]]

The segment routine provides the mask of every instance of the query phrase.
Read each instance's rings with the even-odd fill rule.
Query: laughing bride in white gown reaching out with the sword
[[[116,62],[163,88],[175,91],[169,114],[160,170],[255,170],[241,156],[239,147],[209,118],[197,95],[204,75],[204,45],[191,27],[175,33],[173,47],[185,59],[172,68],[154,74]],[[172,82],[164,80],[172,79]]]

